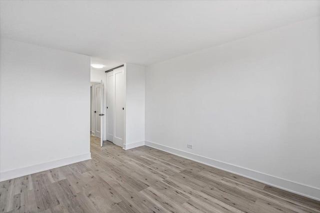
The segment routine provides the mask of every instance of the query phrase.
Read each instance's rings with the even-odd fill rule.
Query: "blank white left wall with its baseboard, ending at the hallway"
[[[1,38],[1,180],[90,159],[90,58]]]

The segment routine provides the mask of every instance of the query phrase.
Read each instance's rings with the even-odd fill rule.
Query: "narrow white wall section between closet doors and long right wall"
[[[145,67],[125,64],[125,147],[144,145]]]

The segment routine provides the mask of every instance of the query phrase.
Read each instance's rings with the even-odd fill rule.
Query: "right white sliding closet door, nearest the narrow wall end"
[[[124,68],[113,70],[114,75],[114,137],[113,143],[123,147],[124,143]]]

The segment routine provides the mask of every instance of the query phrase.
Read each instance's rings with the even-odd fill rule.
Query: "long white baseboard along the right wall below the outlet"
[[[226,172],[230,172],[245,178],[249,178],[251,180],[267,184],[288,192],[292,192],[298,195],[302,195],[304,197],[308,197],[317,201],[320,201],[320,189],[314,188],[311,186],[295,183],[292,181],[288,181],[285,179],[277,178],[271,175],[263,174],[257,171],[245,169],[242,167],[238,167],[232,164],[224,163],[221,161],[213,160],[210,158],[206,158],[200,155],[195,155],[189,152],[181,151],[178,149],[174,149],[171,147],[163,146],[157,143],[153,143],[150,141],[145,141],[145,146],[152,147],[154,149],[158,149],[182,158],[186,158],[210,167],[214,167]]]

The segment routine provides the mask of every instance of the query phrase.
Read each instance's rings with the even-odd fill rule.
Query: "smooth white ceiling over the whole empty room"
[[[149,65],[317,15],[317,0],[1,0],[0,33],[90,55],[107,69]]]

